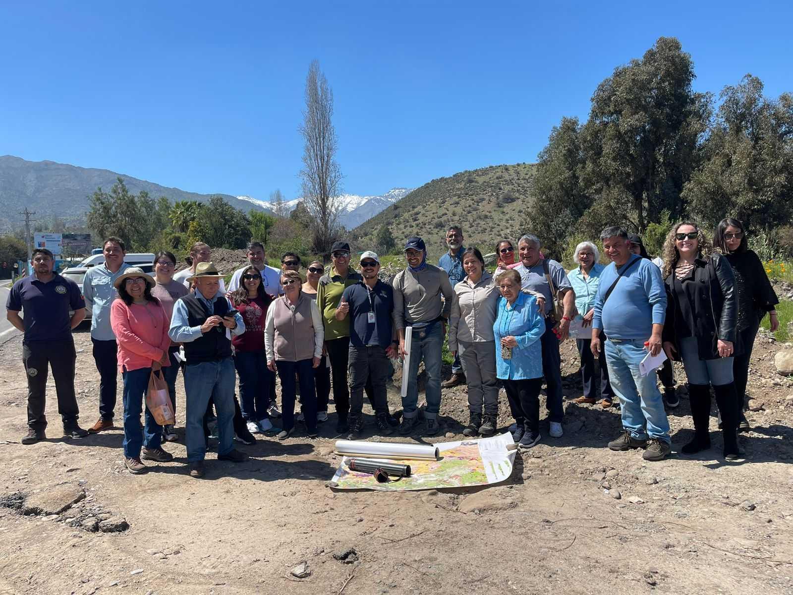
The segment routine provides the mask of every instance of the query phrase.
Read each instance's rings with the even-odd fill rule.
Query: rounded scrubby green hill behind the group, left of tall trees
[[[444,237],[451,224],[462,226],[465,246],[492,252],[497,240],[516,239],[523,210],[531,195],[535,165],[516,163],[461,171],[413,190],[350,232],[358,249],[374,247],[374,236],[388,225],[397,250],[410,236],[421,236],[431,260],[446,251]]]

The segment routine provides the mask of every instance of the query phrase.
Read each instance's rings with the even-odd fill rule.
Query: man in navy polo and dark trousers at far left
[[[14,283],[6,301],[8,321],[22,332],[22,363],[28,374],[28,433],[21,443],[45,440],[44,416],[48,365],[58,394],[63,433],[70,438],[88,436],[77,424],[75,397],[75,341],[71,329],[86,317],[86,303],[71,279],[52,272],[55,259],[45,248],[33,251],[33,274]],[[69,315],[73,310],[74,314]],[[22,311],[25,317],[20,317]]]

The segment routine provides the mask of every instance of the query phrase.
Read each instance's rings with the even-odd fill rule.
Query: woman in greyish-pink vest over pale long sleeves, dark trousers
[[[295,375],[300,379],[303,414],[308,437],[316,437],[316,390],[314,368],[322,359],[324,327],[316,301],[301,291],[303,280],[297,271],[281,271],[284,294],[270,304],[264,328],[267,367],[281,378],[283,430],[285,440],[294,429]]]

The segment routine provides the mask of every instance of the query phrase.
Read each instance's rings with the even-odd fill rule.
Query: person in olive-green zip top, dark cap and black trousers
[[[350,244],[335,242],[331,248],[331,272],[320,277],[316,288],[316,305],[322,314],[325,327],[325,351],[331,363],[333,401],[336,404],[336,432],[350,429],[347,414],[350,412],[350,389],[347,386],[347,367],[350,356],[350,323],[336,319],[336,308],[347,287],[362,281],[361,274],[350,268]],[[324,405],[324,409],[323,409]],[[316,420],[328,419],[328,404],[316,404]]]

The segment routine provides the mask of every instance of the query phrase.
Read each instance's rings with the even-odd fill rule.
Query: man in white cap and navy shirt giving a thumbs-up
[[[350,440],[361,437],[363,428],[363,390],[372,383],[375,424],[381,436],[389,436],[389,402],[385,382],[389,376],[389,357],[397,356],[393,332],[393,287],[377,278],[380,259],[373,251],[361,255],[362,281],[345,288],[335,317],[343,321],[350,314]]]

